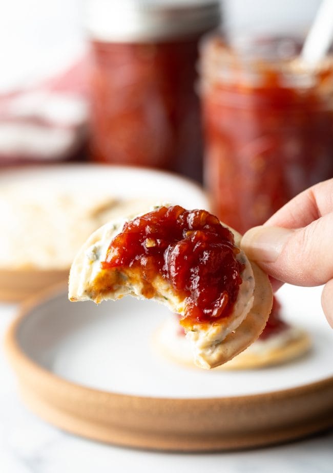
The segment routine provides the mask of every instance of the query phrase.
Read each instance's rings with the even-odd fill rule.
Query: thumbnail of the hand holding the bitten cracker
[[[249,259],[274,263],[293,233],[280,227],[254,227],[243,236],[241,247]]]

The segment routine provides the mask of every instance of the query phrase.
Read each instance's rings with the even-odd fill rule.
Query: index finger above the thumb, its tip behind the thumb
[[[264,226],[297,229],[333,211],[333,178],[301,192],[270,217]]]

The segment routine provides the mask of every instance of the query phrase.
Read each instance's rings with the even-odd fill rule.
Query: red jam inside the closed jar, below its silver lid
[[[202,179],[200,35],[161,42],[92,41],[90,151],[95,161]]]

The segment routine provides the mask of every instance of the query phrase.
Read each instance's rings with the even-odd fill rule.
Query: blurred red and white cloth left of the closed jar
[[[0,164],[69,160],[87,132],[87,60],[24,91],[0,95]]]

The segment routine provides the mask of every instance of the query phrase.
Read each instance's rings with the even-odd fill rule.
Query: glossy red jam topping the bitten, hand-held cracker
[[[110,243],[103,269],[139,268],[154,296],[156,275],[185,298],[183,326],[228,317],[242,283],[234,236],[205,210],[160,207],[125,223]]]

